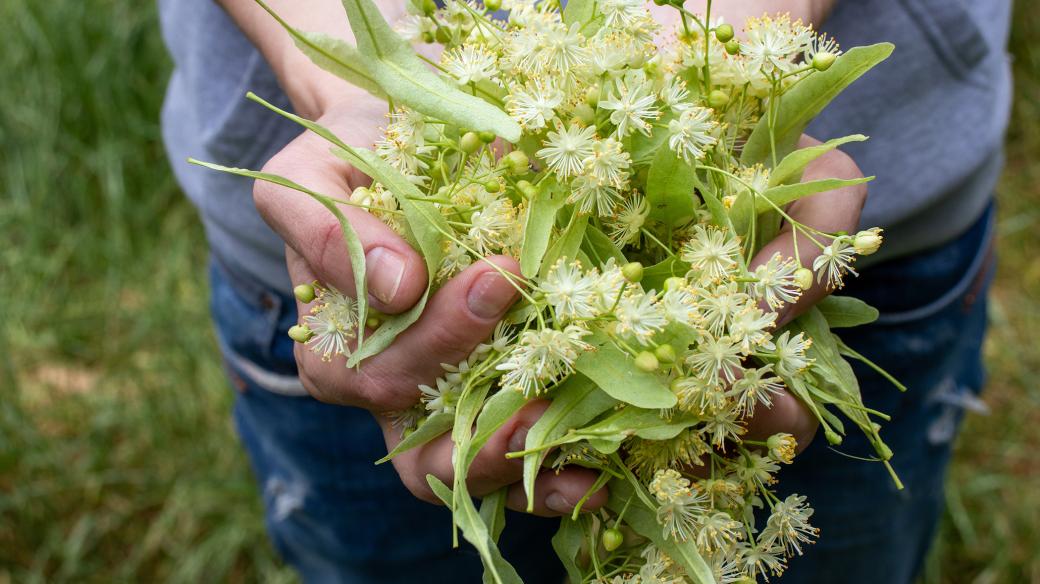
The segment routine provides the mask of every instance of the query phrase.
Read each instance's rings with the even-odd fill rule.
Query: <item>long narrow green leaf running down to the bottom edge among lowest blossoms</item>
[[[640,488],[642,497],[635,493],[635,488]],[[609,489],[610,498],[607,501],[607,507],[616,513],[621,513],[627,504],[628,509],[625,510],[624,522],[635,533],[653,541],[657,549],[682,566],[686,577],[695,584],[714,584],[716,580],[711,567],[697,551],[694,538],[690,538],[687,541],[676,541],[665,537],[661,525],[657,523],[657,510],[646,504],[646,501],[650,500],[646,489],[638,482],[633,485],[632,481],[621,479],[610,481]]]

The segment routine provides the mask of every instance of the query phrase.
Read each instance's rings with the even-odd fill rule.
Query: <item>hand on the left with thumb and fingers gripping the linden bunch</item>
[[[386,105],[367,96],[352,96],[329,109],[318,123],[347,142],[370,145],[378,136]],[[287,177],[323,194],[346,198],[367,179],[329,152],[329,144],[313,133],[305,133],[276,155],[264,171]],[[286,242],[289,274],[294,283],[317,280],[344,293],[352,293],[354,276],[339,223],[320,204],[269,183],[257,182],[254,198],[261,215]],[[412,307],[426,287],[422,259],[378,218],[347,206],[343,214],[358,232],[367,263],[369,300],[376,310],[400,313]],[[502,269],[519,273],[517,262],[506,257],[488,258]],[[486,262],[476,262],[441,287],[430,299],[419,320],[390,347],[364,362],[358,369],[344,367],[342,357],[332,363],[303,345],[296,345],[300,378],[316,399],[371,410],[383,428],[388,450],[400,442],[386,414],[404,409],[419,399],[418,386],[433,383],[443,370],[456,364],[491,336],[495,325],[516,300],[517,290]],[[307,309],[297,304],[303,313]],[[500,428],[477,454],[469,472],[470,493],[486,495],[510,487],[508,505],[523,510],[526,497],[517,482],[522,460],[506,459],[505,453],[522,450],[527,430],[547,406],[527,404]],[[330,448],[335,448],[330,445]],[[445,434],[393,459],[401,481],[416,497],[437,503],[426,483],[433,474],[446,484],[452,481],[452,443]],[[544,473],[536,482],[535,513],[557,515],[570,512],[597,478],[588,469]],[[584,505],[595,509],[606,502],[600,490]]]

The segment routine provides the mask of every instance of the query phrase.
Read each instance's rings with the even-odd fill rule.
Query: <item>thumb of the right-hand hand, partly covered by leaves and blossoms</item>
[[[818,143],[817,140],[803,136],[800,145],[805,148]],[[810,163],[806,167],[802,180],[857,179],[862,176],[859,167],[848,155],[835,150]],[[792,203],[786,212],[796,221],[822,232],[837,233],[843,231],[851,233],[855,232],[859,225],[860,213],[865,202],[866,185],[854,185],[806,196]],[[795,253],[796,238],[798,254]],[[818,236],[815,236],[815,239],[823,245],[830,242],[829,239],[823,240]],[[798,232],[796,235],[792,225],[785,222],[777,237],[762,246],[755,255],[749,269],[754,270],[769,262],[777,254],[781,258],[791,260],[798,256],[802,267],[811,269],[813,260],[821,255],[821,251],[820,245],[809,236],[802,232]],[[827,287],[826,283],[814,280],[812,286],[804,291],[796,302],[785,304],[777,311],[777,327],[783,326],[831,292],[832,290]],[[768,309],[768,307],[763,307],[763,309]]]

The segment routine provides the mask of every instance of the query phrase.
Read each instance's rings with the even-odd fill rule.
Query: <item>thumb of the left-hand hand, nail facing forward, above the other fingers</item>
[[[329,153],[319,136],[305,133],[290,142],[264,171],[286,177],[311,190],[346,200],[359,174]],[[287,187],[257,181],[253,197],[261,216],[297,254],[320,282],[355,294],[354,270],[336,217],[320,203]],[[426,287],[419,255],[375,216],[346,205],[340,211],[357,232],[365,253],[365,281],[372,306],[394,314],[418,300]]]

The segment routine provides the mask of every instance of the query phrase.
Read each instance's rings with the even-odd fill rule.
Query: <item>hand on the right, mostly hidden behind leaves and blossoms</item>
[[[818,144],[820,141],[803,136],[799,148]],[[849,155],[840,151],[831,151],[817,158],[805,169],[804,181],[817,179],[858,179],[863,174]],[[786,213],[803,224],[820,231],[835,233],[846,231],[854,233],[859,224],[859,215],[866,202],[866,185],[844,187],[833,191],[806,196],[792,203]],[[785,222],[777,237],[751,261],[750,268],[764,264],[779,253],[783,258],[795,257],[795,245],[791,237],[791,225]],[[820,256],[820,248],[808,237],[798,235],[798,249],[802,265],[812,267],[812,261]],[[777,326],[783,326],[791,319],[808,310],[831,293],[827,283],[813,281],[811,288],[803,292],[794,304],[783,307],[777,316]],[[758,407],[748,422],[750,440],[762,441],[777,432],[787,432],[798,441],[798,451],[801,452],[812,441],[820,422],[809,413],[808,408],[795,396],[784,391],[773,399],[773,406]]]

